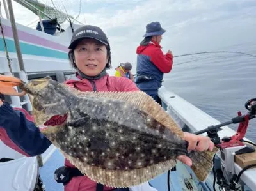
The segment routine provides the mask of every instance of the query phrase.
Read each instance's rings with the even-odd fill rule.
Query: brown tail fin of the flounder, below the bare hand
[[[213,167],[212,159],[217,151],[218,148],[214,148],[213,151],[191,152],[189,154],[188,157],[191,158],[193,164],[191,169],[195,172],[198,180],[204,182],[210,174]]]

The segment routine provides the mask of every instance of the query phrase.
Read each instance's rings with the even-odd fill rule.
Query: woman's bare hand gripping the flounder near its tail
[[[188,151],[212,151],[214,148],[214,143],[209,139],[209,137],[202,135],[195,135],[184,132],[184,140],[188,141]],[[192,160],[186,155],[180,155],[177,157],[177,159],[189,167],[192,165]]]

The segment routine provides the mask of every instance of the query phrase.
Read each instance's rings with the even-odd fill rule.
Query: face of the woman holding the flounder
[[[94,39],[81,40],[74,50],[74,59],[85,75],[98,75],[108,63],[106,46]]]

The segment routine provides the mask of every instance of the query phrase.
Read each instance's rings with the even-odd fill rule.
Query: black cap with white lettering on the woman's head
[[[74,49],[77,43],[84,38],[93,38],[95,40],[99,40],[99,42],[104,43],[104,45],[109,45],[108,38],[102,29],[100,29],[100,27],[85,25],[74,31],[68,49]]]

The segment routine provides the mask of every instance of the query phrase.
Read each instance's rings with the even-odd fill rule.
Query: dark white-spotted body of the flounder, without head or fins
[[[81,162],[129,170],[187,154],[185,141],[138,107],[104,98],[70,99],[65,127],[49,139]]]

